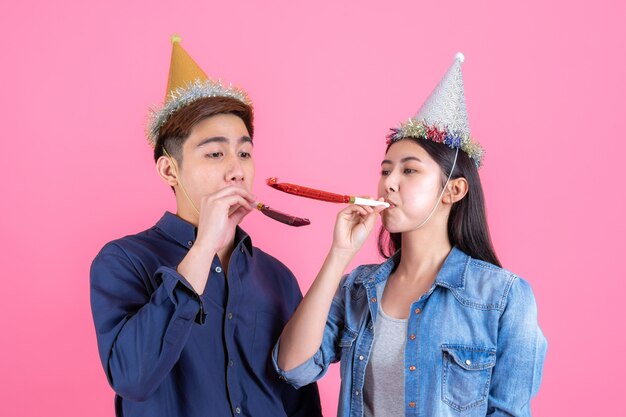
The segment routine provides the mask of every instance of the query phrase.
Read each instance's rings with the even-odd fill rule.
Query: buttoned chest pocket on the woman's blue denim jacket
[[[442,345],[441,349],[443,402],[459,412],[484,404],[496,350],[467,345]]]

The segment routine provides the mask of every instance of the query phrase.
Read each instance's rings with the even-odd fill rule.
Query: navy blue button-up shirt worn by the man
[[[237,228],[228,277],[215,256],[198,295],[176,272],[195,238],[168,212],[93,261],[91,307],[116,415],[321,416],[317,387],[296,391],[271,364],[302,299],[291,271]]]

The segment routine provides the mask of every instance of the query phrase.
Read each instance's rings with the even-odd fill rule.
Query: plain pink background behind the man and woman
[[[374,194],[387,129],[463,51],[493,239],[533,285],[550,343],[534,413],[621,412],[623,1],[155,3],[3,4],[0,415],[113,415],[88,271],[104,243],[174,209],[143,136],[174,32],[256,104],[255,191],[313,225],[253,213],[243,226],[303,291],[339,206],[263,179]],[[356,262],[378,259],[372,239]],[[338,383],[338,368],[320,383],[328,416]]]

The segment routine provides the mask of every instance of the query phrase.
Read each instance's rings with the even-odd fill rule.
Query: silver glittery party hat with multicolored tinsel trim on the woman
[[[417,114],[400,127],[392,129],[390,143],[408,137],[443,143],[461,149],[474,160],[477,167],[480,166],[484,151],[470,136],[461,72],[463,61],[465,56],[457,53],[454,62]]]

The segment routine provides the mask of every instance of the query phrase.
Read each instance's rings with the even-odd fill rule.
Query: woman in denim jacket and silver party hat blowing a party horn
[[[295,387],[341,361],[339,416],[528,416],[546,340],[533,293],[492,248],[462,54],[382,161],[380,265],[342,275],[381,208],[337,216],[331,250],[273,359]],[[393,254],[392,256],[389,256]]]

